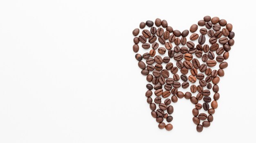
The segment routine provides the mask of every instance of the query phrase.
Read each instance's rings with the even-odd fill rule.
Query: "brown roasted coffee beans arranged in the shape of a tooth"
[[[196,130],[202,132],[203,127],[210,126],[218,107],[220,94],[217,84],[220,77],[224,76],[224,69],[228,66],[225,60],[229,58],[229,50],[234,45],[232,24],[227,24],[226,20],[220,20],[219,17],[205,16],[198,24],[181,32],[173,30],[166,20],[157,18],[155,26],[153,21],[148,20],[146,23],[141,22],[139,28],[132,31],[135,36],[132,48],[136,53],[141,47],[150,49],[144,54],[135,54],[135,58],[139,61],[141,74],[150,82],[146,85],[148,91],[145,95],[152,110],[151,115],[159,123],[158,127],[173,129],[169,123],[173,120],[171,102],[175,103],[178,98],[184,97],[195,104],[192,120],[197,125]],[[199,32],[195,33],[198,29]],[[189,34],[190,37],[187,37]],[[205,43],[207,40],[209,44]],[[180,87],[188,91],[182,92]],[[203,104],[199,103],[200,100]]]

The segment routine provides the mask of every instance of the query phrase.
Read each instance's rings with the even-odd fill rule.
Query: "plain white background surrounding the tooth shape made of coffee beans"
[[[246,0],[1,0],[0,143],[253,142],[254,13]],[[182,31],[205,15],[236,33],[214,121],[196,132],[193,104],[179,99],[173,130],[159,130],[132,30],[159,17]]]

